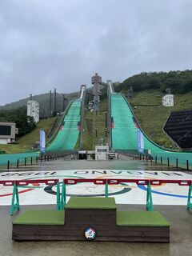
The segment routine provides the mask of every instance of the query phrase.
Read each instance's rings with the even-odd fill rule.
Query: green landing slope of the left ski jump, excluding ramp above
[[[81,102],[78,99],[71,104],[54,142],[46,149],[47,151],[74,150],[78,141]]]

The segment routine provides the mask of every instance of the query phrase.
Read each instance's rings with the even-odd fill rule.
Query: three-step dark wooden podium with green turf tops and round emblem
[[[65,210],[28,210],[13,222],[14,241],[170,242],[156,211],[118,211],[114,198],[70,198]]]

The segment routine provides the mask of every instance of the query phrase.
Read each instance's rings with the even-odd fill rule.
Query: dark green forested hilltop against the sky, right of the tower
[[[134,91],[160,90],[166,92],[171,89],[173,94],[186,94],[192,91],[192,70],[170,71],[170,72],[142,72],[127,78],[119,86],[115,86],[116,91],[128,90],[133,86]]]

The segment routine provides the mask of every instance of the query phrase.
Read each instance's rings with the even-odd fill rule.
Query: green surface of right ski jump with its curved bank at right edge
[[[111,117],[114,118],[114,129],[112,129],[112,147],[114,150],[138,150],[138,128],[134,123],[134,114],[130,109],[129,103],[122,94],[111,94]],[[150,120],[146,120],[150,122]],[[189,166],[192,165],[192,154],[174,152],[163,149],[144,134],[144,149],[150,150],[153,157],[158,159],[162,157],[162,161],[166,162],[167,158],[170,163],[175,163],[178,158],[180,166],[186,166],[186,160]]]

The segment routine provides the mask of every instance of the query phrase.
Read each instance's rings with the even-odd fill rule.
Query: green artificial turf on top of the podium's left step
[[[14,219],[20,225],[64,225],[64,210],[26,210]]]

